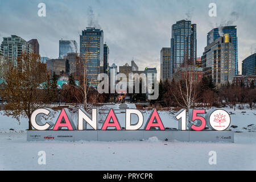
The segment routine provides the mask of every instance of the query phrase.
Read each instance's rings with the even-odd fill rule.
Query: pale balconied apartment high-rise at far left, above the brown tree
[[[32,45],[28,43],[26,40],[20,38],[16,35],[11,35],[10,37],[3,38],[3,42],[1,43],[1,51],[3,52],[3,56],[9,62],[17,64],[17,57],[22,55],[22,53],[32,53]],[[19,65],[18,65],[19,67]]]

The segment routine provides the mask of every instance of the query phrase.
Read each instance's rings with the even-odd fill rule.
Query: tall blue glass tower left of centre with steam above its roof
[[[92,86],[98,85],[98,74],[104,64],[103,39],[103,30],[96,28],[88,27],[80,35],[80,60],[87,61],[87,77]]]

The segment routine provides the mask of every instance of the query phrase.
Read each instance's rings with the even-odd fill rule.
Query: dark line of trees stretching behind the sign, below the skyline
[[[55,82],[53,78],[53,83]],[[55,86],[55,84],[54,84]],[[127,93],[126,96],[129,96],[130,102],[143,102],[147,101],[146,93],[141,93],[141,84],[140,84],[140,93]],[[251,82],[250,87],[247,87],[243,84],[234,85],[227,84],[221,87],[217,87],[214,84],[212,78],[203,77],[200,82],[193,84],[195,86],[196,94],[192,93],[193,103],[191,107],[203,106],[208,109],[212,106],[222,107],[229,106],[234,108],[238,105],[241,109],[244,109],[245,104],[249,104],[252,109],[256,102],[256,89],[254,86],[254,81]],[[55,86],[56,87],[56,86]],[[56,88],[56,90],[58,90]],[[110,90],[110,89],[109,89]],[[128,89],[127,89],[128,90]],[[51,100],[58,102],[59,97],[56,97],[57,92],[52,95]],[[64,103],[80,103],[81,94],[79,86],[76,85],[73,77],[69,77],[67,85],[64,85],[62,89],[59,89],[60,100]],[[160,106],[160,107],[186,107],[186,104],[183,99],[182,93],[187,92],[185,81],[181,80],[180,82],[175,82],[174,80],[166,80],[159,82],[159,97],[157,100],[150,100],[150,105]],[[187,95],[185,95],[186,97]],[[110,101],[116,101],[115,98],[118,97],[118,93],[98,93],[96,89],[90,89],[88,93],[88,102],[96,104],[98,102],[105,103]],[[114,98],[114,99],[113,99]]]

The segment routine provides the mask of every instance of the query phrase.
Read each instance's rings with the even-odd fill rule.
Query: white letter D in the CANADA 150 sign
[[[138,122],[131,124],[131,114],[138,116]],[[138,130],[143,125],[143,114],[137,109],[126,109],[125,112],[125,130]]]

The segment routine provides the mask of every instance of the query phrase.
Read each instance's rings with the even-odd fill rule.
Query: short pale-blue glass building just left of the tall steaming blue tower
[[[68,53],[77,53],[76,40],[59,40],[59,59],[63,59]]]

